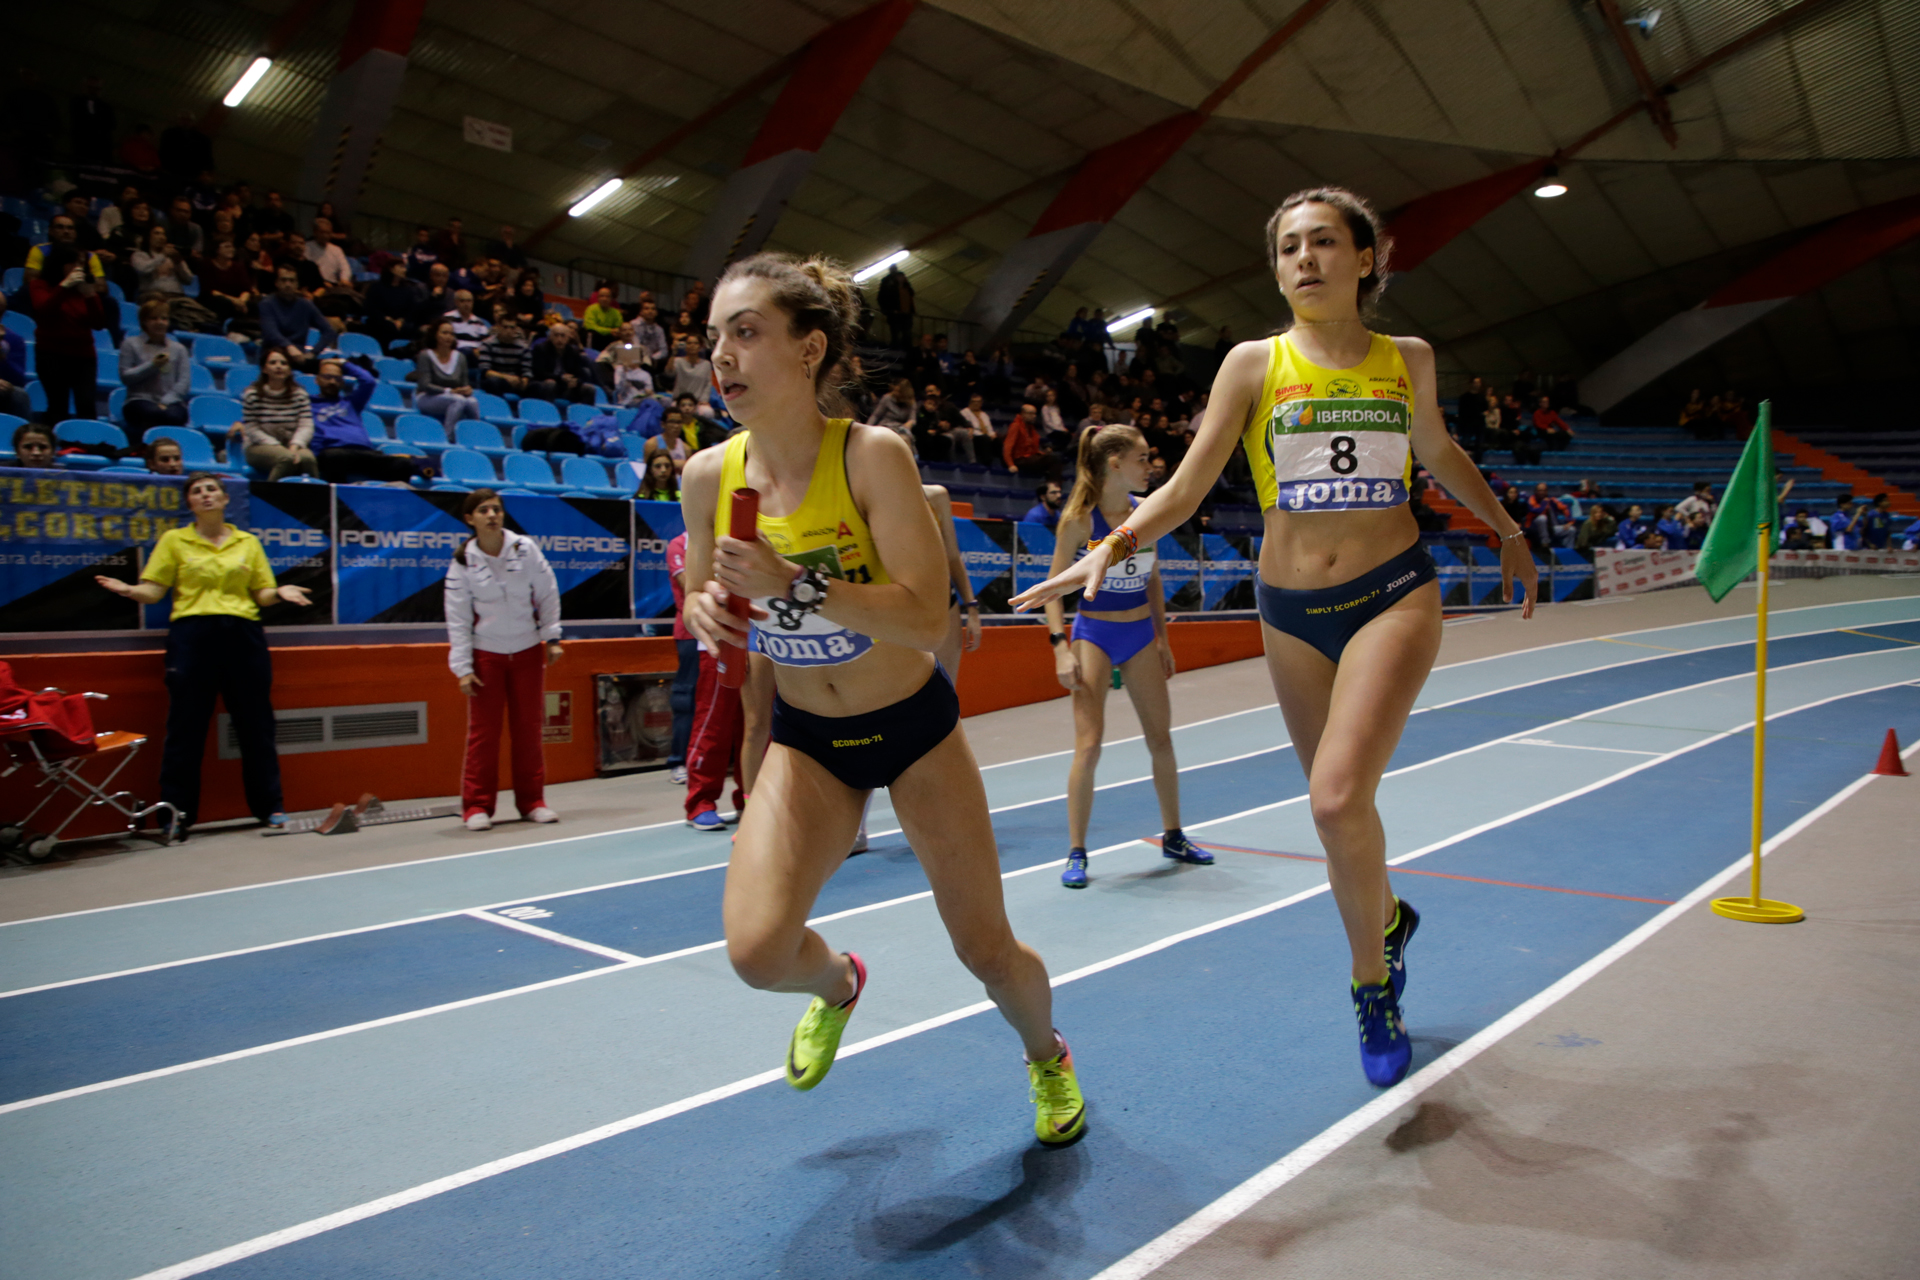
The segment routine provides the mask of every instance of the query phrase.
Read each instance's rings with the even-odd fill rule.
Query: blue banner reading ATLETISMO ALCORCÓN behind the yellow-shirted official
[[[227,491],[227,518],[246,528],[246,484]],[[159,535],[192,522],[184,478],[0,472],[0,631],[138,629],[140,606],[94,576],[138,581]]]

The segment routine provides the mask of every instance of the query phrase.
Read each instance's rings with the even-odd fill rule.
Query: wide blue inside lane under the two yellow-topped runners
[[[1920,689],[1772,722],[1768,831],[1859,777],[1887,725],[1920,733]],[[1415,865],[1676,898],[1743,846],[1751,748],[1730,735]],[[1659,910],[1400,889],[1427,917],[1405,998],[1415,1067]],[[1066,1151],[1021,1138],[1010,1036],[970,1017],[851,1057],[812,1094],[756,1088],[207,1274],[1091,1276],[1373,1096],[1344,952],[1319,894],[1064,986],[1092,1102]]]

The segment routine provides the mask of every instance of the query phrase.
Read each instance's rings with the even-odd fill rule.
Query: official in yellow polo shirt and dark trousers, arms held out
[[[207,748],[213,699],[227,702],[240,741],[248,810],[286,823],[280,806],[280,754],[273,745],[273,656],[259,624],[263,604],[311,604],[305,587],[280,587],[267,551],[227,524],[227,486],[213,472],[186,478],[194,522],[167,530],[140,572],[140,583],[94,578],[113,595],[157,604],[173,591],[167,628],[167,747],[159,760],[159,798],[179,812],[173,839],[186,839],[200,808],[200,758]]]

